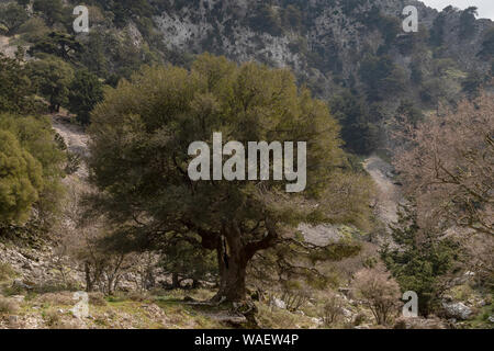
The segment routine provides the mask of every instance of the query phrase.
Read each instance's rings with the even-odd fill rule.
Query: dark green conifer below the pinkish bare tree
[[[381,257],[402,291],[417,293],[418,313],[427,316],[437,307],[456,263],[460,262],[460,246],[440,238],[433,228],[420,228],[412,205],[401,207],[392,230],[397,247],[385,245]]]

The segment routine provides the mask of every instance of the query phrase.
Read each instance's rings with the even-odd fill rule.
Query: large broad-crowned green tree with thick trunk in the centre
[[[211,145],[214,132],[244,145],[306,141],[306,190],[285,193],[285,181],[191,181],[189,145]],[[125,237],[215,250],[216,298],[240,301],[252,257],[293,239],[301,222],[363,218],[369,188],[353,186],[343,170],[338,134],[327,106],[297,89],[285,69],[211,55],[190,70],[144,68],[108,90],[92,114],[89,163],[100,189],[92,214],[120,224]],[[345,186],[332,188],[334,181]]]

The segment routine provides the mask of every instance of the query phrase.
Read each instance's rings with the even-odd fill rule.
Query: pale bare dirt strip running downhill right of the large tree
[[[397,204],[402,201],[400,186],[393,182],[393,167],[378,156],[371,156],[363,167],[378,186],[378,216],[385,224],[397,220]]]

